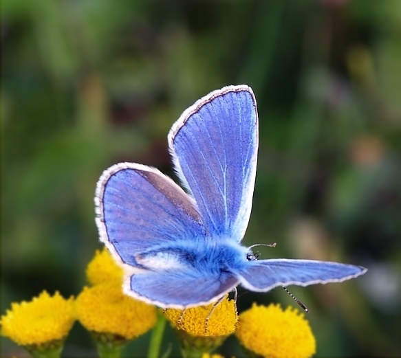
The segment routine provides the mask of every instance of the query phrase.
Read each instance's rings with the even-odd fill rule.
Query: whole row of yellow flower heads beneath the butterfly
[[[118,350],[121,342],[125,344],[153,328],[157,320],[155,306],[122,293],[123,270],[107,249],[96,251],[86,273],[91,287],[84,287],[75,301],[72,297],[64,299],[58,292],[50,296],[43,291],[31,302],[13,303],[1,317],[1,334],[28,350],[39,346],[50,349],[53,345],[61,352],[63,340],[78,318],[94,333],[98,348],[101,339],[111,337],[111,344]],[[235,301],[226,295],[216,306],[166,309],[164,315],[179,330],[182,349],[197,352],[197,356],[204,353],[202,358],[219,358],[208,353],[232,333],[252,355],[307,358],[316,353],[309,323],[292,307],[283,311],[279,304],[254,304],[238,318]]]

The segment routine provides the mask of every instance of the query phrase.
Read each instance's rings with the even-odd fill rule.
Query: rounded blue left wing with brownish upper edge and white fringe
[[[120,163],[105,170],[96,188],[100,240],[122,263],[172,243],[204,238],[193,198],[155,168]]]

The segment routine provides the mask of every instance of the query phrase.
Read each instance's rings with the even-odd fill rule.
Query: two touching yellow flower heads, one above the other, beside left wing
[[[76,299],[76,315],[87,330],[133,339],[155,325],[155,306],[124,295],[122,274],[107,249],[96,251],[87,266],[87,280],[94,286],[84,287]]]

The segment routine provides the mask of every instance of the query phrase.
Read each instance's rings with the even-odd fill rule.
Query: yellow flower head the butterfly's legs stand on
[[[179,309],[166,309],[164,315],[171,321],[173,327],[182,329],[196,336],[221,336],[235,332],[238,325],[237,308],[234,300],[225,300],[218,304],[209,317],[206,318],[215,304],[186,309],[184,314]],[[181,320],[180,320],[181,317]]]

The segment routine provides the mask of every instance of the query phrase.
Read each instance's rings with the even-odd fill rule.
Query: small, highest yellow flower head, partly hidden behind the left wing
[[[87,280],[90,284],[99,284],[102,282],[120,280],[122,282],[122,267],[118,266],[109,250],[96,250],[95,257],[87,265]]]

